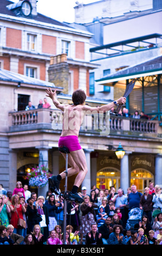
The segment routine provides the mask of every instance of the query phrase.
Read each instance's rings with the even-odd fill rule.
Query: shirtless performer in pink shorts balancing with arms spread
[[[124,104],[126,102],[125,97],[120,97],[120,99],[103,105],[101,107],[90,107],[88,105],[84,105],[86,100],[86,94],[83,90],[78,89],[72,95],[73,105],[65,105],[60,103],[56,98],[56,90],[54,92],[51,88],[46,90],[48,97],[53,100],[54,105],[56,108],[61,109],[63,111],[63,122],[62,122],[62,132],[59,139],[59,147],[64,146],[69,149],[69,156],[68,156],[68,164],[70,168],[68,168],[68,176],[72,176],[77,174],[72,191],[68,193],[69,200],[80,200],[81,197],[77,193],[78,188],[82,184],[85,176],[88,172],[87,169],[87,162],[86,156],[81,148],[79,143],[79,131],[83,120],[83,113],[87,111],[92,113],[96,111],[99,113],[100,111],[106,112],[109,111],[112,107],[118,104]],[[66,159],[66,154],[61,153]],[[51,192],[59,191],[59,185],[62,179],[65,178],[65,173],[62,172],[57,176],[51,176],[49,178],[49,187]]]

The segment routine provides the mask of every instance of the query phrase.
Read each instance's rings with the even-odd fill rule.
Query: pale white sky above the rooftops
[[[17,3],[19,0],[11,0]],[[75,21],[75,2],[88,4],[100,0],[38,0],[37,12],[57,21],[73,23]]]

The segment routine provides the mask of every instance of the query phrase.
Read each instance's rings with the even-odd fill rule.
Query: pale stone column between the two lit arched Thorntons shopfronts
[[[132,152],[126,151],[124,157],[120,161],[120,187],[127,192],[129,187],[129,154]]]

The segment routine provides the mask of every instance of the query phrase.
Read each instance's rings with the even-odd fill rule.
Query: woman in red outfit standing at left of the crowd
[[[26,208],[23,204],[20,203],[20,198],[17,194],[12,196],[12,204],[10,205],[11,210],[11,222],[10,224],[14,226],[14,233],[18,235],[23,235],[23,228],[18,228],[18,219],[23,220],[23,212],[26,212]]]

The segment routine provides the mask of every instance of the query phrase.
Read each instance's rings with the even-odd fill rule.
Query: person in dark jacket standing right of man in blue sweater
[[[147,215],[148,220],[151,222],[153,196],[149,192],[149,187],[145,187],[145,192],[140,198],[139,208],[143,210],[143,215]]]

